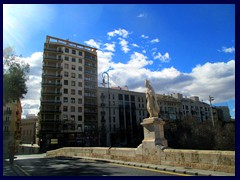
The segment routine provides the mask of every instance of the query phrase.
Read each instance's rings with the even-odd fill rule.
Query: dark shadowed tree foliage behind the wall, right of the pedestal
[[[173,125],[176,128],[172,128]],[[165,126],[172,148],[235,150],[235,123],[218,121],[213,127],[211,121],[198,122],[193,117],[186,117]]]

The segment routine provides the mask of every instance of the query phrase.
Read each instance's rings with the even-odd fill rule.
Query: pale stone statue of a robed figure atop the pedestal
[[[150,81],[146,80],[146,98],[147,98],[147,111],[150,114],[149,118],[158,117],[159,106],[157,103],[157,98],[154,89],[150,85]]]

